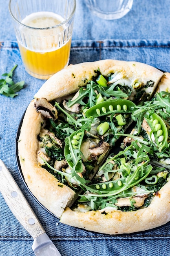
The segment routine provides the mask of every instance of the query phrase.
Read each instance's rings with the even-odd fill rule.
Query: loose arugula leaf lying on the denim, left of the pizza
[[[13,71],[16,67],[17,65],[15,65],[9,73],[2,74],[2,76],[6,76],[5,79],[0,79],[0,94],[11,98],[17,96],[18,94],[16,92],[20,91],[24,86],[24,81],[14,83],[12,79]]]

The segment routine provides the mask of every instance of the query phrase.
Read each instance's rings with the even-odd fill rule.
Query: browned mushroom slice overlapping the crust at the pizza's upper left
[[[46,98],[36,99],[34,108],[37,112],[40,112],[43,117],[57,119],[57,110]]]

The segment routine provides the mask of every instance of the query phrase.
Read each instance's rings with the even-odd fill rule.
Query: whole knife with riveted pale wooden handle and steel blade
[[[32,249],[35,255],[61,256],[1,159],[0,192],[13,215],[32,236]]]

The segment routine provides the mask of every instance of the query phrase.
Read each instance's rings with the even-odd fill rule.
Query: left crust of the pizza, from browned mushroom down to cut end
[[[35,198],[60,218],[64,208],[73,200],[75,192],[37,164],[37,135],[43,119],[33,109],[34,101],[31,101],[26,110],[18,140],[20,165],[24,180]]]

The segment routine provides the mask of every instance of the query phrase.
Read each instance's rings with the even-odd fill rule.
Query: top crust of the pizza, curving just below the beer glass
[[[98,68],[105,76],[109,73],[125,71],[126,76],[132,82],[139,79],[141,83],[146,84],[149,77],[151,80],[156,81],[155,86],[163,76],[163,72],[155,67],[135,61],[102,60],[86,62],[69,65],[53,75],[42,85],[34,97],[45,97],[48,101],[51,101],[76,92],[79,86],[86,85],[93,76],[97,75],[95,70]]]

